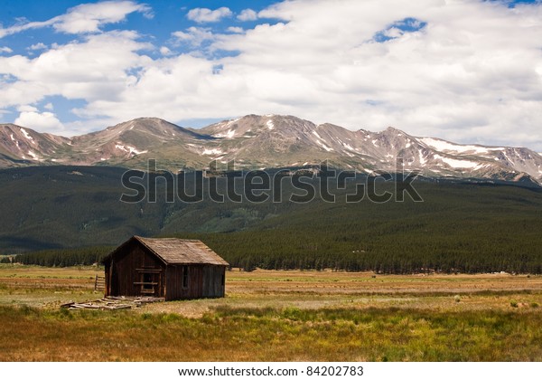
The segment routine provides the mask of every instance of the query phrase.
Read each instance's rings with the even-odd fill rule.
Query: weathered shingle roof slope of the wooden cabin
[[[140,236],[134,236],[134,239],[141,242],[168,264],[229,265],[227,261],[199,240],[154,239]]]

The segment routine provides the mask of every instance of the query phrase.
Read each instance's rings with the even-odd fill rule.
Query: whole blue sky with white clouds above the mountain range
[[[542,1],[0,0],[0,123],[247,114],[542,152]]]

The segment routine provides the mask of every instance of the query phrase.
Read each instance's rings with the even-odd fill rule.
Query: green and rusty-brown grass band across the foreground
[[[11,337],[0,360],[540,361],[540,315],[527,310],[220,307],[184,318],[0,307]]]

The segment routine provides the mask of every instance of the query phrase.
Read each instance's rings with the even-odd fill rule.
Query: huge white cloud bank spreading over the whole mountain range
[[[190,53],[154,60],[128,32],[0,57],[0,109],[61,95],[87,100],[77,114],[98,128],[142,115],[284,113],[542,151],[539,3],[298,0],[258,16],[276,22],[174,32]],[[205,49],[226,53],[197,53]]]

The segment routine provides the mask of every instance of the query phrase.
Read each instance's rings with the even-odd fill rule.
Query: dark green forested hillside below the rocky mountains
[[[542,272],[542,190],[416,180],[424,202],[119,202],[124,169],[48,166],[0,171],[0,252],[117,245],[132,234],[202,239],[247,269]],[[367,179],[367,178],[365,178]],[[360,178],[363,180],[363,178]],[[370,182],[369,182],[370,183]],[[378,194],[395,193],[382,182]],[[36,190],[37,189],[37,190]],[[220,191],[225,190],[220,187]],[[17,196],[19,195],[19,196]]]

